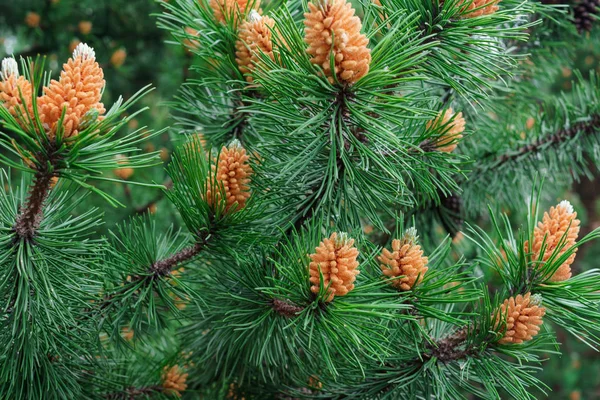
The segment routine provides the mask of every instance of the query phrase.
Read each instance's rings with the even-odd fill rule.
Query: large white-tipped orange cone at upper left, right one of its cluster
[[[77,45],[73,57],[63,65],[58,81],[52,80],[38,100],[40,120],[50,138],[56,136],[57,122],[65,110],[64,137],[76,136],[79,124],[88,111],[99,115],[106,111],[100,102],[104,73],[96,62],[94,50],[84,43]]]

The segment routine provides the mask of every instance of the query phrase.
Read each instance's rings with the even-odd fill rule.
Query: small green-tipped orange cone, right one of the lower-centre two
[[[392,241],[392,251],[383,249],[377,258],[381,262],[381,271],[398,290],[410,290],[421,280],[427,272],[427,257],[423,257],[423,250],[417,244],[416,229],[406,231],[404,237]],[[399,278],[401,277],[401,278]]]

